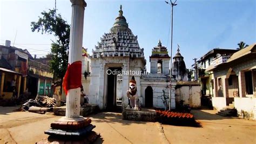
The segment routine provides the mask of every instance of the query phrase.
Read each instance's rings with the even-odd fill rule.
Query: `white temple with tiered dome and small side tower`
[[[169,97],[170,56],[167,49],[161,46],[160,41],[152,49],[152,73],[147,74],[144,49],[139,47],[137,36],[130,30],[123,16],[122,5],[110,32],[104,33],[92,53],[89,92],[91,104],[97,104],[100,109],[113,109],[117,103],[121,103],[123,108],[127,107],[126,91],[134,76],[142,106],[166,107],[162,98],[164,95]],[[175,85],[176,82],[173,82],[172,108],[175,108]]]

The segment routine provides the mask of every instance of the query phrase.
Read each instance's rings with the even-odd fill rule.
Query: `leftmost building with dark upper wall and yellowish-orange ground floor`
[[[6,40],[1,51],[1,95],[3,98],[19,96],[26,90],[28,59],[32,56],[26,49],[12,47]]]

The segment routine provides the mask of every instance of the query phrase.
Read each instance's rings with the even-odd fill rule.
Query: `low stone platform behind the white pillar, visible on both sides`
[[[90,106],[80,107],[80,116],[85,117],[91,113],[97,113],[98,111],[99,111],[98,105],[90,105]],[[66,106],[53,107],[53,113],[56,116],[65,116]]]

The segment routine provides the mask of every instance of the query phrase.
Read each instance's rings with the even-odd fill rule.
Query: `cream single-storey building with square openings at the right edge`
[[[206,69],[213,72],[213,107],[233,106],[239,116],[256,119],[256,44],[213,63]]]

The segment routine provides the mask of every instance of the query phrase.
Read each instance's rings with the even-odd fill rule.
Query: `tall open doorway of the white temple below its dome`
[[[106,110],[118,111],[122,109],[122,68],[107,69]]]

